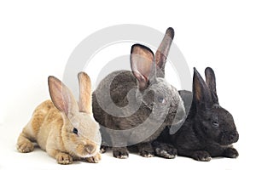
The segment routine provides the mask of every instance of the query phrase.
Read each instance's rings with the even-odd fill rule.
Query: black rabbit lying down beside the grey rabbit
[[[183,126],[170,135],[166,128],[153,143],[156,155],[173,158],[188,156],[197,161],[210,161],[212,157],[236,158],[238,151],[232,144],[239,139],[233,116],[218,103],[215,74],[205,70],[206,82],[194,68],[193,94],[179,91],[189,116]]]

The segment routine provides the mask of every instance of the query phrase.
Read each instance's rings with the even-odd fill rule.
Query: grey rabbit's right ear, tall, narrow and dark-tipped
[[[157,66],[157,77],[165,77],[165,66],[166,66],[166,59],[170,51],[170,47],[172,44],[172,39],[174,37],[174,30],[173,28],[168,28],[166,30],[166,35],[163,38],[162,42],[160,43],[159,48],[155,53],[155,61]]]

